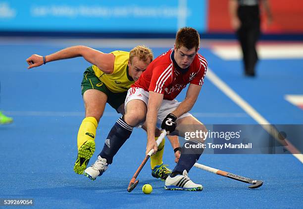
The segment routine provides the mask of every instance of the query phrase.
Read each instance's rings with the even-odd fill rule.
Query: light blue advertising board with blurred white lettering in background
[[[0,0],[0,31],[175,33],[206,30],[207,0]]]

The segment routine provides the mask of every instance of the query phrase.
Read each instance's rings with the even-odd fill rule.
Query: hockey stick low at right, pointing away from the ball
[[[232,173],[229,173],[229,172],[226,172],[226,171],[222,171],[222,170],[219,170],[219,169],[208,167],[206,165],[202,165],[202,164],[199,164],[197,162],[194,164],[194,166],[197,167],[197,168],[200,168],[202,170],[206,170],[208,172],[215,173],[217,175],[225,176],[227,178],[235,179],[237,181],[242,181],[242,182],[245,182],[245,183],[248,183],[248,184],[253,184],[252,186],[249,186],[250,189],[258,188],[258,187],[262,186],[262,184],[263,184],[263,181],[253,180],[253,179],[246,178],[246,177],[243,177],[243,176],[238,176],[236,174],[232,174]]]

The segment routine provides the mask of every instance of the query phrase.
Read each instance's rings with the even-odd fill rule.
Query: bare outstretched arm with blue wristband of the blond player
[[[33,54],[27,58],[26,61],[29,64],[28,69],[30,69],[46,64],[47,62],[79,56],[83,56],[88,62],[98,66],[106,74],[112,73],[113,71],[115,56],[112,53],[103,53],[86,46],[69,47],[46,56]]]

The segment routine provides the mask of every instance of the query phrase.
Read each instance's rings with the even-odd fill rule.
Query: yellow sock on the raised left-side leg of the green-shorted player
[[[83,119],[77,137],[78,150],[88,140],[95,140],[98,122],[94,117]]]

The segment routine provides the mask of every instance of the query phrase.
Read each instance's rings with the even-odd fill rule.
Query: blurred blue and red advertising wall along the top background
[[[269,1],[274,21],[263,34],[302,40],[303,1]],[[182,26],[204,38],[234,38],[228,0],[0,0],[2,36],[165,38]]]

